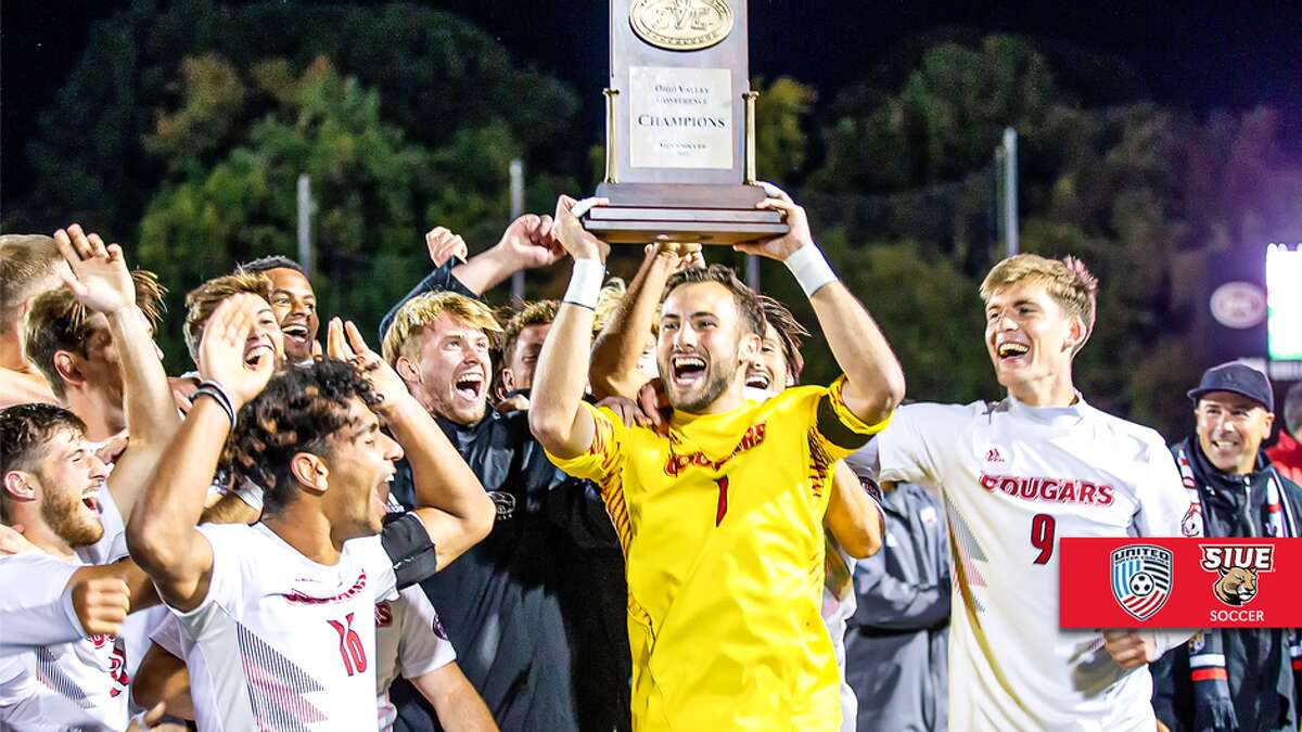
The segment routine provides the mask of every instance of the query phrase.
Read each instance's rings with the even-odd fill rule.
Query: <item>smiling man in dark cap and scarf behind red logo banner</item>
[[[1275,422],[1271,382],[1243,363],[1208,369],[1189,392],[1194,435],[1172,447],[1204,537],[1295,538],[1302,488],[1262,451]],[[1154,710],[1170,729],[1297,729],[1293,630],[1210,629],[1154,666]],[[1299,658],[1302,660],[1302,658]]]

